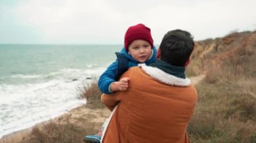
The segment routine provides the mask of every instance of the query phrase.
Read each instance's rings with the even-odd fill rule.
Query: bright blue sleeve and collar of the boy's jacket
[[[145,62],[145,64],[151,64],[152,62],[156,61],[156,47],[154,46],[152,49],[152,56],[149,60],[147,60]],[[124,54],[125,57],[128,59],[128,67],[131,66],[137,66],[137,64],[139,64],[139,62],[137,62],[136,60],[134,60],[130,54],[128,54],[125,50],[125,48],[123,47],[121,50],[121,54]],[[110,94],[112,93],[110,91],[110,84],[115,82],[115,79],[117,77],[117,60],[115,60],[115,62],[113,62],[112,64],[110,64],[110,66],[108,66],[108,68],[106,69],[106,71],[104,71],[104,73],[102,73],[102,75],[100,76],[100,79],[98,80],[98,87],[100,88],[100,91],[102,91],[102,93],[106,93],[106,94]]]

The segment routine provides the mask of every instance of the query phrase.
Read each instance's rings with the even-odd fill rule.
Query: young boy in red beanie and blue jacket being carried
[[[139,63],[151,64],[155,62],[157,51],[153,43],[150,28],[141,23],[129,27],[125,33],[125,46],[117,54],[117,60],[110,64],[100,76],[98,81],[100,91],[108,94],[108,96],[111,96],[111,93],[115,91],[126,91],[129,85],[129,78],[119,79],[119,77],[131,66],[137,66]],[[100,132],[94,136],[86,136],[84,141],[100,142]]]

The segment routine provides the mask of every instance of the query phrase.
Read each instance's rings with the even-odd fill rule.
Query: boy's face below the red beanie
[[[128,54],[137,62],[143,63],[150,58],[152,47],[146,40],[134,40],[128,47]]]

